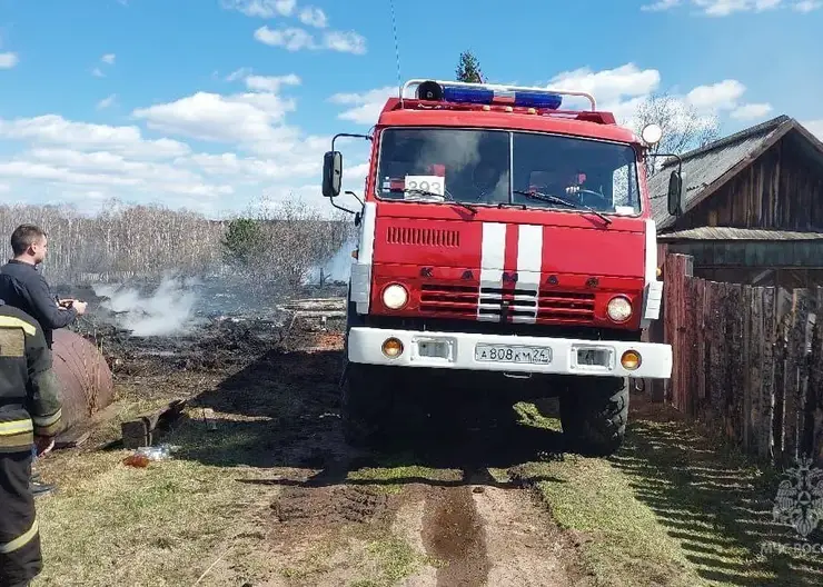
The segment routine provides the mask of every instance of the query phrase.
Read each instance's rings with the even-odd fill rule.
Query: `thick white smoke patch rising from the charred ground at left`
[[[153,292],[100,285],[95,294],[109,298],[100,307],[115,314],[118,326],[140,337],[186,334],[196,325],[198,292],[195,279],[163,277]]]

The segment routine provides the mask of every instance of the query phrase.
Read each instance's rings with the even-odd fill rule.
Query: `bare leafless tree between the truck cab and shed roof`
[[[633,130],[639,135],[650,123],[656,123],[663,130],[663,138],[651,149],[652,153],[683,155],[716,140],[720,133],[716,116],[698,112],[693,106],[667,93],[652,94],[637,107]],[[648,177],[660,170],[661,159],[646,159]]]

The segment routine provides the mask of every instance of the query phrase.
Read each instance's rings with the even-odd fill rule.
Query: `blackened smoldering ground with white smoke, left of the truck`
[[[321,289],[323,298],[279,304],[251,301],[237,286],[172,279],[58,291],[89,302],[71,329],[97,344],[116,377],[222,371],[345,322],[345,299],[334,288]]]

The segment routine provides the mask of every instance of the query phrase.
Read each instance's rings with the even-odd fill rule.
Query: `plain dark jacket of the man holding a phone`
[[[40,322],[49,348],[53,330],[70,325],[77,318],[76,309],[58,308],[49,283],[33,265],[14,259],[0,267],[0,299]]]

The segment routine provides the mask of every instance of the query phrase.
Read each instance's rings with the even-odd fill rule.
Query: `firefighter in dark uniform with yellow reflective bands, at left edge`
[[[31,446],[51,449],[60,408],[40,326],[0,300],[0,587],[27,586],[42,570]]]

